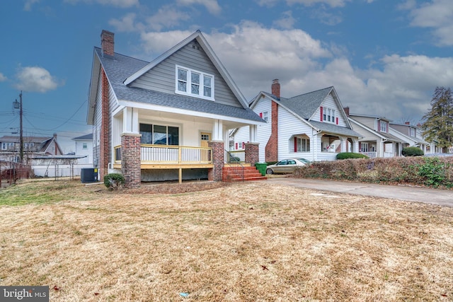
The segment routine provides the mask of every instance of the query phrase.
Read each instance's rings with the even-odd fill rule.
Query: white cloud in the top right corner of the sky
[[[432,28],[437,45],[453,45],[453,1],[432,0],[419,6],[414,1],[407,1],[399,8],[410,11],[411,26]]]

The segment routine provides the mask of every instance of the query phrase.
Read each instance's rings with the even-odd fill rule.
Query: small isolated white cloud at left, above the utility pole
[[[62,85],[49,71],[38,66],[21,67],[16,78],[18,79],[16,88],[28,92],[45,93]]]

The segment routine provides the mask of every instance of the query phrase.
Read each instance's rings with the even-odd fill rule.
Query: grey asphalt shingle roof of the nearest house
[[[103,56],[101,48],[95,47],[105,74],[118,100],[130,100],[150,105],[165,106],[195,112],[204,112],[225,117],[235,117],[244,120],[263,122],[263,120],[250,108],[238,108],[229,105],[222,105],[209,100],[190,98],[184,95],[162,93],[144,88],[125,86],[125,79],[134,72],[142,69],[149,62],[145,62],[122,54],[115,53],[115,57]],[[200,115],[202,116],[202,115]]]

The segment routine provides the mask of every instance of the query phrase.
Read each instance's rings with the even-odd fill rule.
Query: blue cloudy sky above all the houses
[[[436,86],[453,87],[451,0],[5,0],[0,3],[0,136],[86,125],[93,47],[151,61],[201,30],[251,100],[280,79],[283,97],[335,86],[350,112],[420,122]]]

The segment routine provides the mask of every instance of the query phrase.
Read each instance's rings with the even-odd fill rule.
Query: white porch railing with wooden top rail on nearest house
[[[212,163],[212,149],[190,146],[140,145],[142,163]],[[115,163],[121,162],[121,146],[115,146]]]

